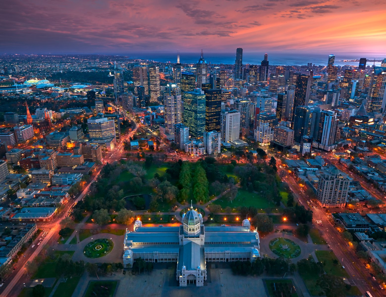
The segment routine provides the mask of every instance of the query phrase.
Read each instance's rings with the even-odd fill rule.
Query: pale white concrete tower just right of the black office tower
[[[240,137],[240,112],[225,109],[221,111],[221,142],[229,143]]]

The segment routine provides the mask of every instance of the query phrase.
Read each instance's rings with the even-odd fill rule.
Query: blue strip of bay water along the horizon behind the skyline
[[[354,60],[360,58],[367,58],[368,60],[384,59],[386,53],[294,53],[294,52],[268,52],[268,60],[270,65],[307,65],[307,63],[313,63],[316,65],[327,65],[328,55],[335,54],[335,65],[355,65],[358,66],[359,62],[342,62],[339,60]],[[131,59],[147,59],[158,62],[172,62],[177,61],[176,53],[167,52],[153,52],[153,53],[129,53],[127,54]],[[196,63],[200,58],[200,52],[180,52],[179,54],[181,63]],[[235,63],[235,52],[234,53],[213,53],[204,51],[204,58],[208,63],[211,64],[234,64]],[[243,64],[260,64],[264,58],[264,52],[243,53]],[[367,65],[372,65],[373,62],[367,61]],[[376,62],[376,65],[380,66],[381,62]]]

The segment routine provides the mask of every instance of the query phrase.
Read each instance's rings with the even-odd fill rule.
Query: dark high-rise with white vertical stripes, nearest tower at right
[[[318,132],[313,147],[330,151],[336,147],[339,119],[332,110],[322,110],[320,112],[320,120]]]

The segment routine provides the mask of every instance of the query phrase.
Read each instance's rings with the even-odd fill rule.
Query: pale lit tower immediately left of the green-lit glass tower
[[[176,124],[182,123],[181,89],[173,83],[168,83],[164,91],[165,128],[169,134],[174,134]]]

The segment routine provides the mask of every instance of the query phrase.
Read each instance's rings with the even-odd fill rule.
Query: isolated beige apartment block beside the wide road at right
[[[350,186],[350,177],[338,169],[325,170],[320,174],[317,199],[322,208],[344,208]]]

